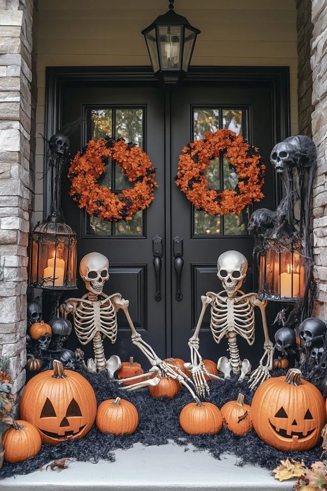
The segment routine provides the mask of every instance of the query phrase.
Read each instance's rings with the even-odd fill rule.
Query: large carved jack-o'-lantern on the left
[[[54,360],[54,369],[38,373],[27,383],[20,416],[40,432],[43,443],[79,440],[91,429],[97,413],[94,390],[79,373]]]

